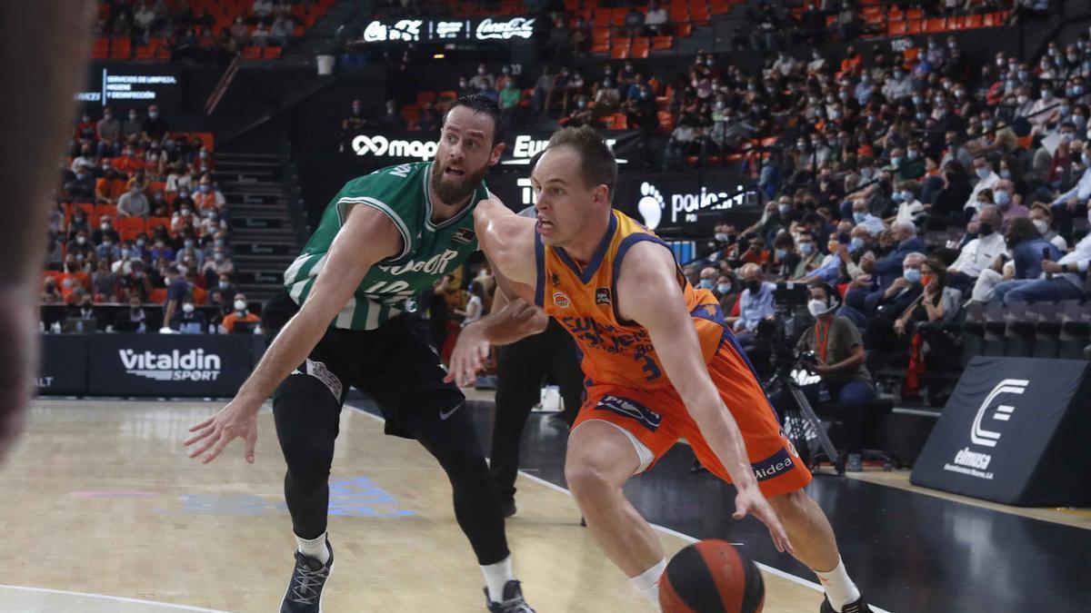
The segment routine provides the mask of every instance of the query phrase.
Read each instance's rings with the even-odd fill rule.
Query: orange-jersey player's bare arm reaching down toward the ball
[[[788,533],[757,486],[739,424],[708,375],[675,271],[674,259],[662,247],[633,245],[615,281],[622,315],[647,328],[667,376],[731,476],[739,490],[735,519],[753,513],[769,528],[777,549],[791,552]]]

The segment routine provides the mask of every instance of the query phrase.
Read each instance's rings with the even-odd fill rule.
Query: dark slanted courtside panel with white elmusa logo
[[[1091,362],[979,356],[910,482],[1018,506],[1091,504]]]

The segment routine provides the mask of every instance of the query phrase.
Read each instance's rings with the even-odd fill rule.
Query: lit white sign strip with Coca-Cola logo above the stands
[[[509,20],[397,20],[373,21],[363,28],[364,43],[427,43],[529,40],[533,36],[535,17]]]

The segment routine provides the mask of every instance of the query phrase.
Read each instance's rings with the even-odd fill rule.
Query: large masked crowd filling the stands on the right
[[[772,315],[770,281],[838,288],[837,312],[862,335],[872,372],[907,352],[957,368],[943,324],[972,304],[1088,298],[1086,35],[1050,43],[1036,61],[999,55],[980,68],[954,38],[913,58],[781,52],[754,75],[702,60],[675,89],[683,132],[668,160],[694,133],[712,139],[709,119],[684,108],[698,92],[755,134],[780,136],[752,167],[770,197],[760,219],[718,228],[717,250],[687,267],[744,344]]]

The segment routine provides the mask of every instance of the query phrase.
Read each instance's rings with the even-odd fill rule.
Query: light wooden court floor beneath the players
[[[37,400],[0,466],[0,611],[277,611],[295,543],[272,413],[259,417],[253,466],[238,442],[208,466],[181,445],[220,406]],[[345,410],[331,483],[326,613],[484,611],[449,484],[417,443]],[[539,613],[654,611],[579,527],[571,496],[524,477],[518,488],[507,533]],[[669,554],[686,544],[660,537]],[[816,589],[764,578],[765,611],[818,610]]]

